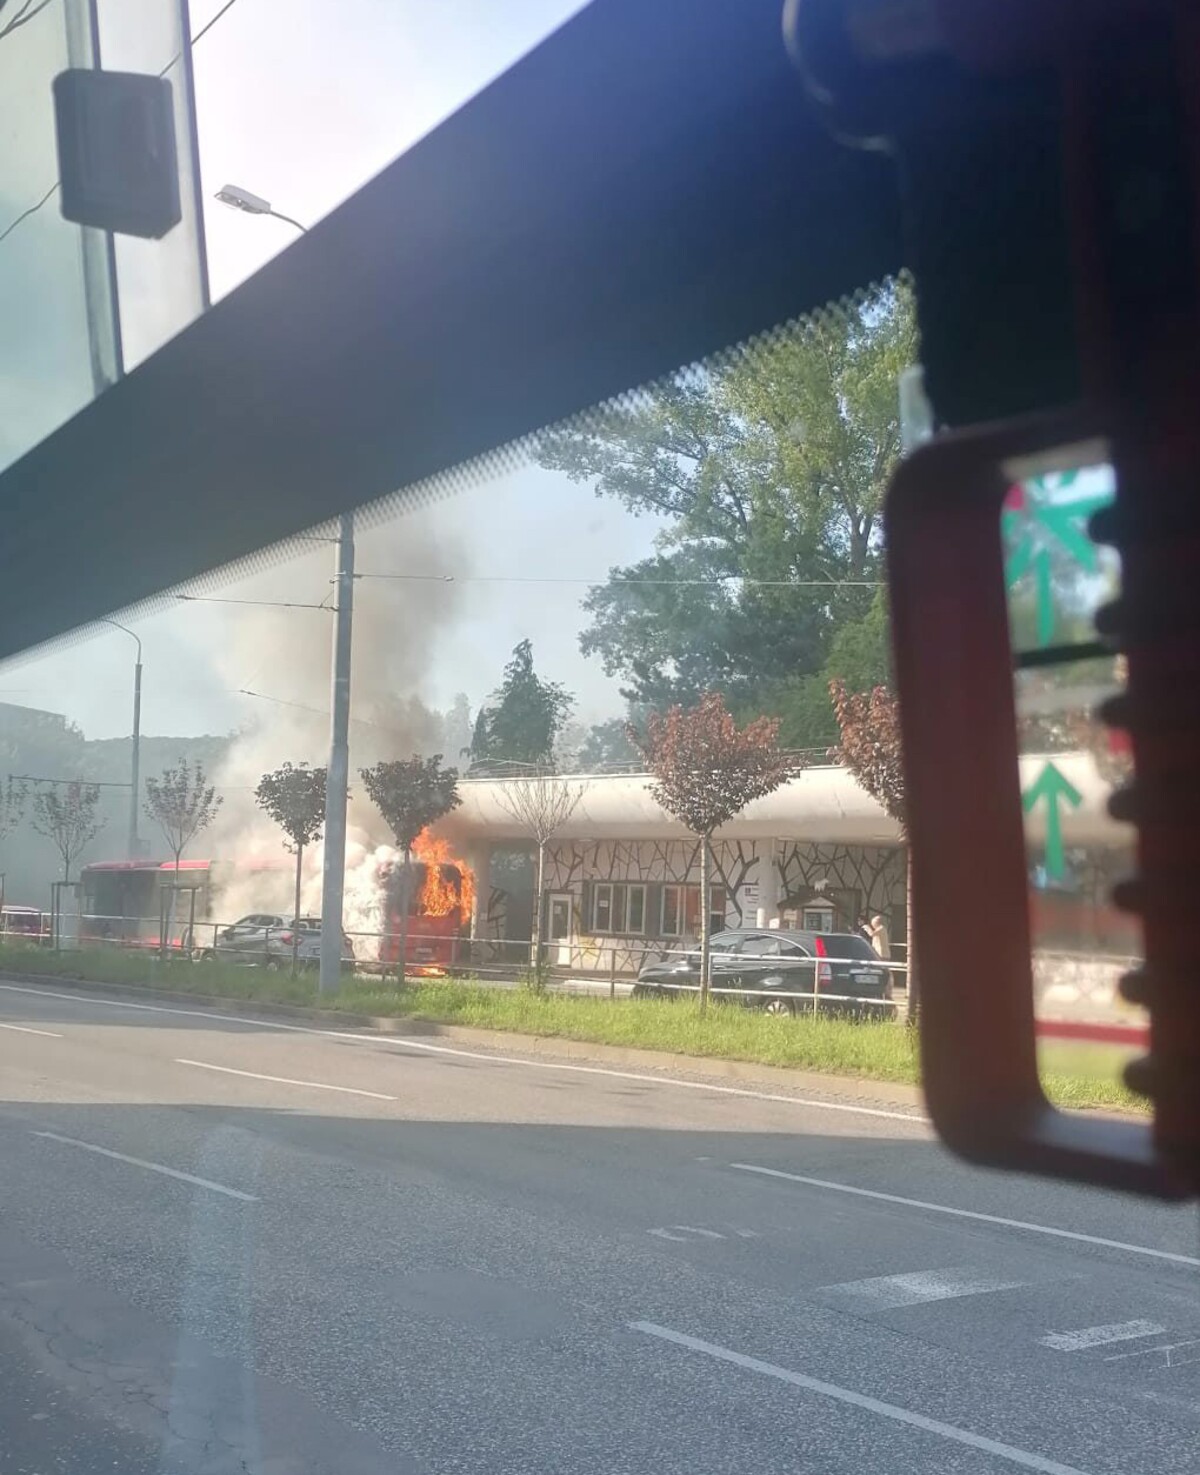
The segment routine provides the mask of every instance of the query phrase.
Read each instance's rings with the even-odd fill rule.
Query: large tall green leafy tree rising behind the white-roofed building
[[[821,671],[880,578],[914,339],[910,295],[892,285],[541,440],[543,466],[663,519],[653,556],[584,602],[582,649],[627,698],[719,689],[762,712],[772,684]]]

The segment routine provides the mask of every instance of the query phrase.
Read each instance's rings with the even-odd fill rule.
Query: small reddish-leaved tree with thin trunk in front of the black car
[[[778,746],[778,720],[759,717],[739,727],[718,692],[691,707],[652,712],[646,732],[629,726],[653,774],[650,792],[700,841],[700,1010],[709,996],[711,848],[714,830],[752,799],[784,783],[798,767]]]

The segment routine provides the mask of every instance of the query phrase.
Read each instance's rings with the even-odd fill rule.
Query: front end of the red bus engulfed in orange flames
[[[401,937],[405,972],[436,976],[460,962],[463,941],[470,931],[475,906],[475,876],[456,860],[450,845],[422,830],[413,842],[407,869],[401,860],[380,866],[385,888],[383,938],[379,962],[394,968],[400,962]],[[404,898],[408,897],[408,925],[404,926]]]

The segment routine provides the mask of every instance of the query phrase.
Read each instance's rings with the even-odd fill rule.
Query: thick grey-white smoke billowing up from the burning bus
[[[444,531],[445,516],[405,516],[358,531],[360,572],[414,572],[417,580],[358,578],[354,587],[351,680],[351,801],[346,836],[345,923],[349,932],[382,926],[380,866],[397,858],[388,827],[369,801],[360,768],[382,758],[445,751],[444,721],[425,702],[438,659],[439,633],[456,617],[458,586],[438,575],[461,572],[464,552]],[[314,540],[311,552],[229,590],[229,597],[302,603],[335,600],[335,544]],[[264,773],[290,761],[320,766],[329,758],[333,617],[315,609],[230,606],[234,639],[215,653],[217,667],[248,699],[254,718],[237,735],[214,776],[224,802],[208,833],[217,860],[237,861],[214,897],[221,920],[248,912],[290,912],[295,858],[279,827],[258,808],[254,789]],[[457,763],[447,752],[447,763]],[[321,844],[304,857],[301,906],[318,912]],[[246,875],[245,866],[270,867]],[[223,867],[229,876],[229,867]],[[367,940],[355,940],[371,956]]]

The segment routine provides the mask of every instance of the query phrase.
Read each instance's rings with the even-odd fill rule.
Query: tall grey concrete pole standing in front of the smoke
[[[333,693],[329,779],[324,791],[324,867],[321,873],[320,991],[342,982],[342,900],[346,881],[346,791],[349,789],[349,662],[354,620],[354,513],[338,525],[338,609],[333,617]]]

